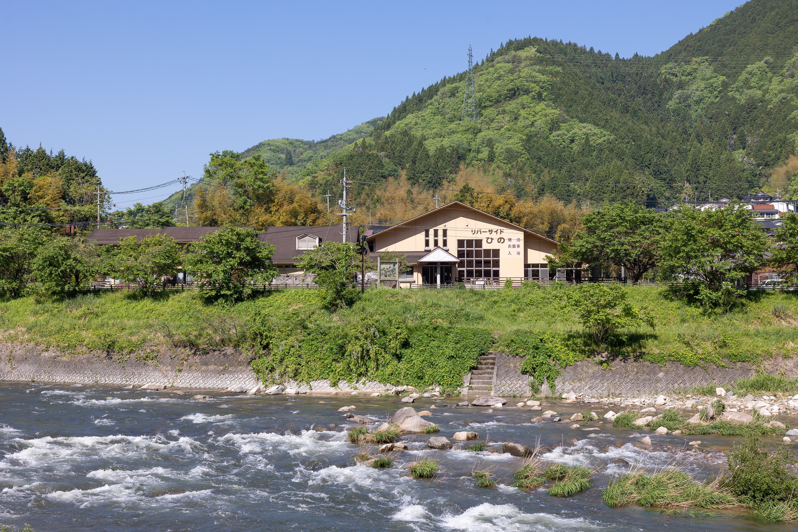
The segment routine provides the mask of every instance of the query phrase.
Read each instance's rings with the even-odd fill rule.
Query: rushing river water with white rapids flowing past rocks
[[[667,516],[636,506],[608,508],[601,487],[626,471],[680,465],[698,477],[720,471],[721,455],[675,453],[685,439],[650,435],[654,449],[635,447],[642,433],[592,424],[531,423],[528,408],[435,404],[440,435],[471,430],[501,442],[554,448],[551,463],[595,470],[594,487],[570,498],[509,487],[523,459],[483,451],[430,451],[429,436],[405,437],[396,466],[356,465],[338,408],[385,420],[405,406],[397,397],[225,396],[208,400],[97,386],[0,384],[0,524],[38,532],[61,530],[795,530],[745,513],[705,518]],[[448,406],[447,406],[448,405]],[[578,412],[583,405],[551,404]],[[587,406],[587,405],[585,405]],[[570,410],[569,410],[570,408]],[[544,408],[545,410],[545,408]],[[604,411],[597,412],[602,413]],[[587,426],[583,424],[583,427]],[[700,436],[717,449],[732,438]],[[621,445],[621,447],[618,447]],[[559,446],[559,447],[557,447]],[[457,447],[457,446],[456,446]],[[707,447],[706,445],[703,447]],[[440,460],[436,479],[415,480],[403,465]],[[474,486],[472,470],[492,468],[495,489]]]

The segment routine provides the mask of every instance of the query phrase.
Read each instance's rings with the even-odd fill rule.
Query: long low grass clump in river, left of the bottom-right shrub
[[[720,479],[700,483],[679,469],[666,469],[654,475],[628,473],[610,482],[602,491],[602,499],[610,507],[637,503],[672,510],[722,510],[741,506],[731,490],[721,487]]]

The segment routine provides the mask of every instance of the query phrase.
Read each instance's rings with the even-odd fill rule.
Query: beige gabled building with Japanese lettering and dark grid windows
[[[557,242],[506,220],[452,202],[397,226],[366,231],[369,256],[404,254],[400,285],[499,284],[549,278],[547,254]],[[385,276],[383,276],[385,277]]]

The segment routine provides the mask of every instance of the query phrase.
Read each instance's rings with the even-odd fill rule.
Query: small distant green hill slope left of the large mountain
[[[356,125],[350,130],[330,136],[324,140],[302,140],[302,139],[271,139],[264,140],[243,152],[243,157],[260,155],[266,160],[267,164],[277,171],[285,169],[287,177],[293,177],[304,170],[308,164],[318,162],[331,153],[368,136],[385,116],[373,118],[368,122]],[[286,161],[286,154],[290,152],[290,158]],[[289,162],[290,164],[286,164]]]

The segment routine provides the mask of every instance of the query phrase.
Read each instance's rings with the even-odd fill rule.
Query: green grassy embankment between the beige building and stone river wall
[[[798,298],[791,294],[754,294],[733,313],[705,315],[659,288],[630,287],[630,303],[653,310],[656,329],[624,331],[607,347],[591,345],[563,307],[565,290],[571,289],[371,290],[338,313],[322,309],[315,290],[278,291],[236,305],[206,304],[190,292],[6,299],[0,339],[122,358],[175,348],[266,348],[272,356],[255,363],[263,374],[444,386],[456,386],[495,337],[502,342],[514,333],[549,333],[566,346],[567,363],[597,351],[688,366],[758,363],[798,351]]]

